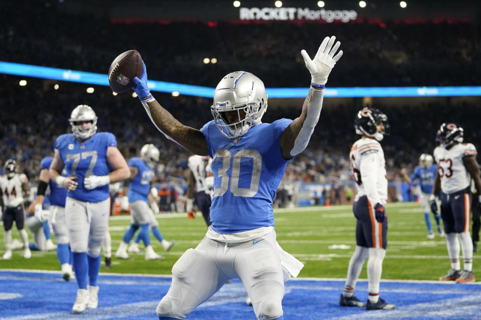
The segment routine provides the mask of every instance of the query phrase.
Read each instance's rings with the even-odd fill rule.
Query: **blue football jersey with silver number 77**
[[[84,188],[85,177],[109,174],[109,146],[117,146],[117,140],[110,132],[97,132],[84,142],[77,140],[73,133],[62,134],[57,138],[55,148],[65,163],[67,175],[76,176],[75,181],[79,183],[74,191],[67,192],[67,196],[86,202],[99,202],[110,196],[108,184],[93,190]]]

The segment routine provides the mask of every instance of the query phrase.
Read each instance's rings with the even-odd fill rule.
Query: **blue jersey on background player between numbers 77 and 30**
[[[144,160],[138,157],[130,158],[128,165],[135,166],[139,170],[129,184],[129,202],[137,200],[149,202],[147,195],[150,192],[150,181],[154,176],[154,171]]]

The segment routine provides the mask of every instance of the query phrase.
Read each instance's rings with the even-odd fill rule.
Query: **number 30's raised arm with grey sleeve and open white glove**
[[[336,54],[341,43],[337,41],[334,44],[335,40],[334,35],[326,36],[313,60],[306,50],[301,51],[306,67],[311,72],[311,88],[304,100],[301,115],[294,119],[281,134],[281,152],[285,159],[290,159],[306,148],[319,120],[327,77],[342,56],[342,50]]]

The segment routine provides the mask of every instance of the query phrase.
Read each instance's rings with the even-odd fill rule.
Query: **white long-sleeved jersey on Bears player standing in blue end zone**
[[[387,202],[386,161],[381,144],[371,138],[360,138],[349,153],[356,182],[356,201],[367,195],[371,205]]]

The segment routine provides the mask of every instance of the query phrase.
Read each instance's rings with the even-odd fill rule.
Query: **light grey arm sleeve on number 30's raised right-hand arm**
[[[319,115],[321,114],[322,100],[324,98],[324,90],[311,89],[311,98],[307,103],[307,116],[302,125],[301,131],[294,141],[294,146],[291,150],[291,155],[301,153],[309,143],[314,127],[319,121]]]

